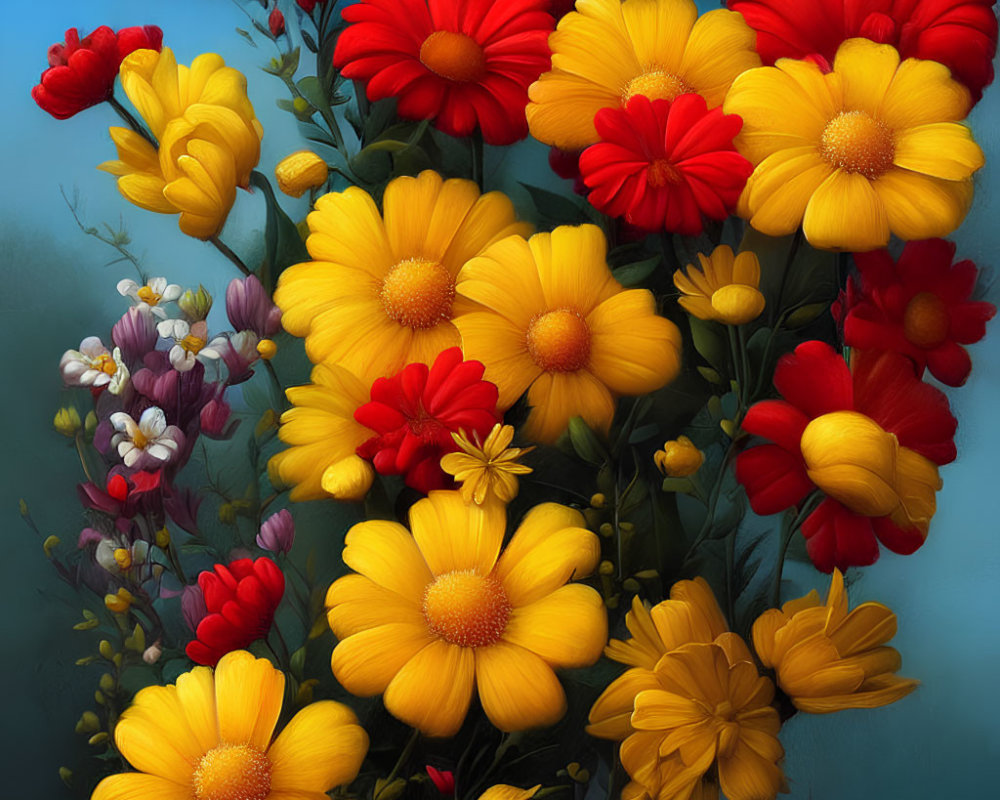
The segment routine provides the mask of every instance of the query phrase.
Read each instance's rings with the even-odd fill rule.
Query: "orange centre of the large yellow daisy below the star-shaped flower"
[[[473,570],[438,576],[424,592],[428,627],[459,647],[486,647],[500,639],[510,617],[510,602],[491,577]]]

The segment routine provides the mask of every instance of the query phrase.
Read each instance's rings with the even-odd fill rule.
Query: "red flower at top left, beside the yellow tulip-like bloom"
[[[82,40],[76,28],[70,28],[64,44],[49,48],[50,66],[31,96],[56,119],[68,119],[111,97],[125,56],[135,50],[159,50],[162,43],[163,32],[155,25],[118,33],[102,25]]]

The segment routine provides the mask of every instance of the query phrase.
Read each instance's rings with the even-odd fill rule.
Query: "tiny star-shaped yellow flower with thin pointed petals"
[[[461,452],[445,455],[441,469],[462,484],[460,490],[466,503],[482,505],[491,498],[509,503],[517,497],[517,476],[531,472],[531,467],[518,464],[517,460],[535,448],[511,447],[512,425],[498,422],[485,442],[480,442],[478,436],[474,442],[469,441],[464,433],[453,433],[451,438]]]

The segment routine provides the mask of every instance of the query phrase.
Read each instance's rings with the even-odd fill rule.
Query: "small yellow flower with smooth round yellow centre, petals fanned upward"
[[[692,264],[674,273],[674,286],[680,292],[681,308],[698,319],[715,320],[724,325],[745,325],[764,310],[760,286],[760,262],[744,251],[734,256],[728,245],[720,245],[705,256],[698,253],[701,269]]]

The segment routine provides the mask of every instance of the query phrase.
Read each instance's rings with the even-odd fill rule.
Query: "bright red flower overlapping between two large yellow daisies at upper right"
[[[743,121],[709,110],[698,94],[673,102],[639,95],[598,111],[594,127],[601,141],[580,156],[588,199],[645,230],[701,233],[703,216],[729,216],[753,172],[733,146]]]

